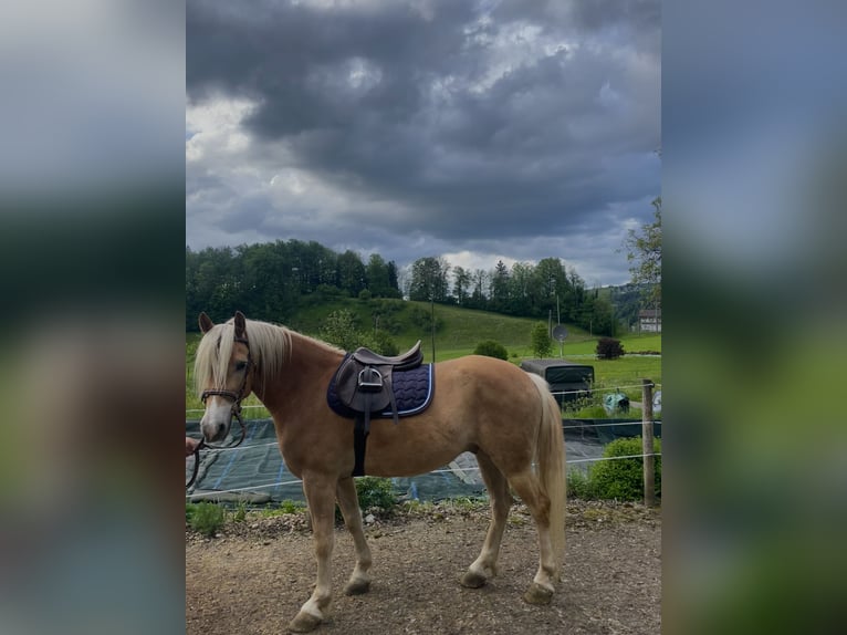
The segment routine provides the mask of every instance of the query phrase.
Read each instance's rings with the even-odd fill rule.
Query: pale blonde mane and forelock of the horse
[[[291,356],[292,331],[254,320],[247,320],[245,324],[253,363],[262,381],[270,381],[282,371],[283,363]],[[224,389],[234,336],[236,326],[230,319],[223,324],[216,324],[200,340],[195,357],[195,391],[198,395],[210,385],[216,391]]]

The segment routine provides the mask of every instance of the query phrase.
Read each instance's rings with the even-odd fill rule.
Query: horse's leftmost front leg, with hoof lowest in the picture
[[[312,517],[312,534],[317,560],[317,582],[309,601],[301,606],[297,616],[289,624],[294,633],[316,628],[326,620],[333,593],[332,554],[335,542],[335,478],[325,475],[303,475],[303,492],[306,495]]]

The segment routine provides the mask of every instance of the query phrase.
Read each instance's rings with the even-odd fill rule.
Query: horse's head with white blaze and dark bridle
[[[200,331],[203,337],[195,362],[197,388],[206,406],[200,429],[207,443],[215,443],[229,434],[233,415],[241,420],[241,400],[252,389],[254,364],[240,311],[218,325],[200,313]]]

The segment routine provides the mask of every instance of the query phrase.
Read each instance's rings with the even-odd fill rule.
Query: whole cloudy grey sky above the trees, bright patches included
[[[186,240],[629,279],[658,0],[188,0]]]

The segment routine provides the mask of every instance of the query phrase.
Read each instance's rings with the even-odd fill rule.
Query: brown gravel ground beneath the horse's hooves
[[[353,544],[336,532],[332,620],[318,634],[535,635],[659,633],[661,522],[639,506],[569,503],[564,576],[548,606],[521,600],[537,565],[534,525],[516,508],[499,575],[480,590],[458,579],[478,555],[485,510],[449,503],[366,532],[373,585],[341,594]],[[229,522],[215,539],[186,532],[186,633],[279,634],[311,593],[314,560],[301,517]]]

